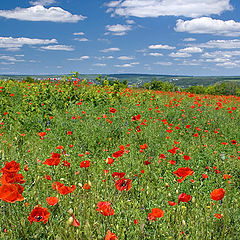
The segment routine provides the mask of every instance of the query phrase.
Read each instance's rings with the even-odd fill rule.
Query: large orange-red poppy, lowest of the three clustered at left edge
[[[24,188],[18,184],[6,183],[0,186],[0,199],[4,202],[14,203],[16,201],[23,201],[22,196]]]

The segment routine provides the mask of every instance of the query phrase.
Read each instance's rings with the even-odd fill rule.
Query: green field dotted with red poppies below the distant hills
[[[0,239],[239,239],[240,97],[0,80]]]

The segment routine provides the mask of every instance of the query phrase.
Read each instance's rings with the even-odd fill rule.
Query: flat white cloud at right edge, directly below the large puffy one
[[[202,47],[202,48],[221,48],[221,49],[234,49],[240,48],[240,40],[210,40],[206,43],[195,44],[191,46]]]

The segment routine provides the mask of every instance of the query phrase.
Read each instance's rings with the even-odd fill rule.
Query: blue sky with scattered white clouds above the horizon
[[[239,0],[1,0],[0,74],[240,75]]]

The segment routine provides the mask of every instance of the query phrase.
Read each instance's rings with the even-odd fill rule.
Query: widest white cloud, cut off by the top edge
[[[230,0],[122,0],[106,4],[112,15],[200,17],[232,10]]]

